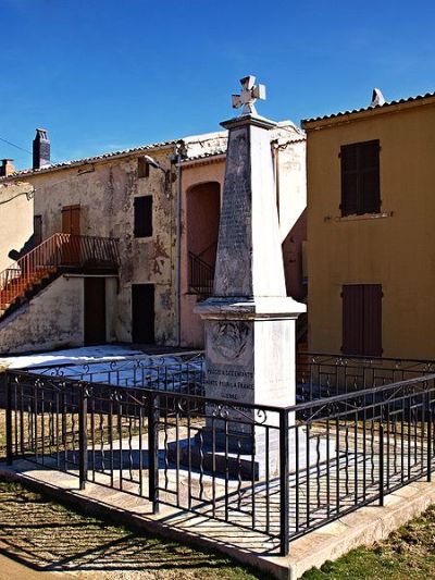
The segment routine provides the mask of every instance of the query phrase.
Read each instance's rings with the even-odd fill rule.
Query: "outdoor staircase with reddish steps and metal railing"
[[[117,273],[115,238],[57,233],[0,272],[0,320],[63,273]]]

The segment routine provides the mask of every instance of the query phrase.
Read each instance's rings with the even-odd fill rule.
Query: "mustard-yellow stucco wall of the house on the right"
[[[308,132],[309,347],[339,353],[341,285],[382,284],[383,354],[435,357],[435,106]],[[385,217],[340,218],[340,146],[380,139]]]

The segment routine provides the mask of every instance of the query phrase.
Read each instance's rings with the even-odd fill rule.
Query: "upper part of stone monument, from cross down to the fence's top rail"
[[[295,323],[306,306],[287,297],[265,97],[240,81],[228,129],[213,296],[196,307],[206,330],[206,396],[228,403],[295,403]],[[236,428],[237,429],[237,428]],[[246,449],[247,453],[251,453]]]

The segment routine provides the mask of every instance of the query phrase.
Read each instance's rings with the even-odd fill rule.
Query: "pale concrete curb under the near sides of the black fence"
[[[72,474],[49,470],[26,460],[13,467],[0,464],[2,478],[22,481],[87,513],[134,525],[151,533],[217,550],[279,579],[296,580],[313,566],[334,560],[349,550],[383,540],[396,528],[435,503],[435,483],[419,481],[385,497],[385,506],[368,506],[312,531],[290,543],[290,554],[277,555],[277,541],[174,507],[162,506],[152,515],[147,499],[88,483],[78,490]]]

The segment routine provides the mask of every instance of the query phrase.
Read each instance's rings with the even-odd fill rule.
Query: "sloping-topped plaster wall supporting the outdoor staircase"
[[[61,276],[0,322],[0,354],[83,344],[83,279]]]

